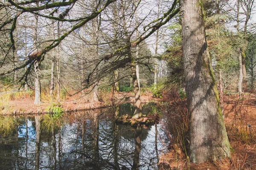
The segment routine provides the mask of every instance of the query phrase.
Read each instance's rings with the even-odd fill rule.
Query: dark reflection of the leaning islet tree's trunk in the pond
[[[137,128],[135,129],[135,150],[133,164],[131,168],[132,170],[138,170],[140,166],[141,133],[142,127],[137,126]]]

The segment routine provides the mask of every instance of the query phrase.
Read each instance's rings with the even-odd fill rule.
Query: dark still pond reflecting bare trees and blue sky
[[[65,114],[0,116],[0,169],[157,170],[166,139],[160,124],[116,125],[133,106]],[[144,108],[148,113],[150,107]],[[5,125],[3,125],[5,124]],[[158,134],[156,133],[158,129]]]

